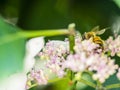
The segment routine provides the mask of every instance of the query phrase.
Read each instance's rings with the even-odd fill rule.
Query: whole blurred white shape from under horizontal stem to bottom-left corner
[[[34,65],[34,57],[43,48],[44,39],[43,37],[37,37],[30,39],[26,43],[26,54],[24,58],[24,70],[20,73],[15,73],[3,81],[0,81],[0,90],[26,90],[26,73]]]

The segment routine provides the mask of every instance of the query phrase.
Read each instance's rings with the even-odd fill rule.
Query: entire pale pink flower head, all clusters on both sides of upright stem
[[[117,73],[120,78],[120,69],[115,60],[111,59],[106,52],[111,52],[111,56],[120,53],[120,36],[115,40],[112,37],[104,43],[107,47],[102,50],[99,44],[96,44],[92,39],[83,40],[80,36],[75,37],[75,46],[73,54],[69,51],[69,41],[49,41],[45,47],[38,53],[39,61],[44,61],[44,67],[57,77],[67,75],[66,70],[74,73],[90,71],[93,73],[92,78],[104,83],[110,75]],[[35,64],[36,65],[36,64]],[[34,66],[36,67],[36,66]],[[41,67],[41,65],[37,65]],[[49,78],[46,77],[43,68],[39,70],[31,70],[28,74],[28,81],[34,80],[38,84],[47,84]],[[27,84],[29,88],[30,85]]]

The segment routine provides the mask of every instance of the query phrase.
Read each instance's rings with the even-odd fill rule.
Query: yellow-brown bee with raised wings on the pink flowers
[[[83,40],[91,39],[94,43],[99,44],[99,48],[104,50],[104,41],[98,36],[103,34],[108,28],[102,30],[99,29],[99,26],[94,27],[90,32],[85,32],[83,35]]]

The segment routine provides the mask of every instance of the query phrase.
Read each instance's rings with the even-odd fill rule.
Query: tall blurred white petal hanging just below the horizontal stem
[[[28,72],[31,70],[35,63],[34,57],[44,47],[43,37],[30,39],[26,44],[26,55],[24,62],[24,70]]]

